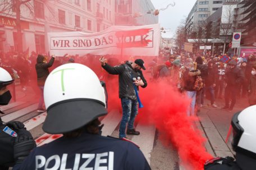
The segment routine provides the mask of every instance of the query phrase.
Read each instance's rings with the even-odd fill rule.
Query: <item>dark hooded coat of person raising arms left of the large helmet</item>
[[[54,58],[52,57],[48,63],[44,63],[43,61],[44,61],[44,56],[38,55],[38,58],[36,59],[36,64],[35,64],[38,86],[44,86],[45,80],[49,75],[48,68],[52,67]]]

